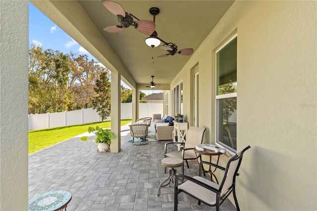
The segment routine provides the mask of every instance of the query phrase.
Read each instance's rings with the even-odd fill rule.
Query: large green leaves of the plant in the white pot
[[[111,144],[111,139],[114,138],[113,132],[111,132],[110,129],[103,129],[99,126],[94,127],[88,127],[89,133],[94,133],[96,135],[96,138],[93,138],[93,142],[96,142],[96,144],[104,143],[104,144]],[[80,138],[82,141],[87,141],[88,136],[83,136]]]

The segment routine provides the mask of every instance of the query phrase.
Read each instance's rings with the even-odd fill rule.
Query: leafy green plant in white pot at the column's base
[[[96,128],[88,127],[88,132],[96,135],[96,138],[93,138],[93,142],[98,144],[99,152],[107,152],[110,150],[111,139],[114,138],[113,132],[111,132],[110,129],[103,129],[99,126],[96,126]],[[87,141],[88,136],[83,136],[80,140]]]

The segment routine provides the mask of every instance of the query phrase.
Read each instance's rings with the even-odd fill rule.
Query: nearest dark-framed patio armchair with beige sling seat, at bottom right
[[[242,161],[243,153],[249,148],[250,146],[232,156],[229,159],[226,168],[223,168],[211,162],[201,161],[199,165],[199,176],[189,177],[183,174],[177,174],[175,176],[174,183],[174,211],[177,211],[178,194],[180,194],[181,192],[184,192],[197,199],[198,205],[203,202],[208,206],[215,206],[216,211],[219,211],[219,207],[223,203],[223,201],[231,193],[233,193],[236,208],[238,211],[240,211],[235,192],[235,181],[236,176],[239,176],[238,170]],[[203,164],[208,164],[224,171],[224,176],[220,185],[210,181],[209,179],[201,177]],[[178,180],[186,181],[179,185]]]

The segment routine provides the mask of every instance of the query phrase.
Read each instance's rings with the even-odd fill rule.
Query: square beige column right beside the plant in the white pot
[[[121,75],[111,71],[111,153],[118,153],[121,149]]]

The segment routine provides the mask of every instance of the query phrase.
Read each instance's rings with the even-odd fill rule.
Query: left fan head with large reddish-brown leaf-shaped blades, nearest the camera
[[[134,26],[134,28],[146,35],[151,35],[155,30],[155,22],[151,20],[140,20],[131,13],[124,11],[121,4],[111,1],[111,0],[102,0],[104,6],[114,15],[118,17],[120,25],[113,25],[104,28],[104,31],[114,34],[119,34],[123,31],[124,28],[129,26]],[[138,21],[134,21],[133,18]]]

